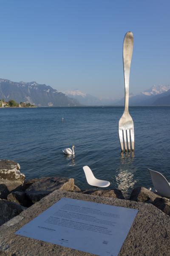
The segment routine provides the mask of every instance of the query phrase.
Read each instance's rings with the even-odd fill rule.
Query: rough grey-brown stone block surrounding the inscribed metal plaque
[[[152,204],[85,195],[76,192],[54,191],[20,215],[0,227],[0,255],[3,256],[90,256],[90,253],[14,234],[23,225],[56,203],[59,199],[73,198],[138,209],[139,212],[125,239],[119,256],[170,255],[170,217]]]

